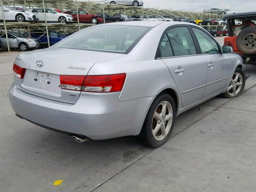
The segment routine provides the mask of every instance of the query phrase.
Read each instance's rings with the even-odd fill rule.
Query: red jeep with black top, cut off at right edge
[[[231,46],[244,61],[256,64],[256,12],[236,13],[223,16],[228,21],[228,37],[224,45]],[[235,20],[242,20],[236,25]]]

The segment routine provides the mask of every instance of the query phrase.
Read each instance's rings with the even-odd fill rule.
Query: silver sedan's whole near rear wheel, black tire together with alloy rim
[[[170,118],[169,120],[164,121],[163,115],[161,114],[163,112],[162,104],[166,104],[166,112],[164,116],[169,116],[167,117]],[[152,148],[157,148],[167,142],[174,127],[176,116],[175,109],[174,100],[169,94],[160,93],[158,96],[156,96],[148,110],[142,130],[138,136],[140,141]],[[156,130],[156,128],[158,130]],[[154,133],[155,130],[156,132]],[[162,130],[167,132],[164,134]]]

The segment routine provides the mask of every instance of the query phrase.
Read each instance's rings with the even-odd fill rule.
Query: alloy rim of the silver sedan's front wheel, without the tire
[[[236,96],[243,85],[243,77],[240,73],[234,73],[232,76],[230,85],[228,86],[228,94],[230,96]]]

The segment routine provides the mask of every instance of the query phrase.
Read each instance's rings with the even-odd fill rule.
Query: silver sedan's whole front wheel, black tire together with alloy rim
[[[238,79],[236,80],[237,76],[238,76]],[[234,75],[232,76],[232,80],[228,86],[228,89],[230,90],[227,90],[225,93],[222,94],[222,96],[224,98],[234,98],[234,97],[240,96],[244,91],[245,80],[246,80],[246,76],[244,71],[241,68],[236,68]]]

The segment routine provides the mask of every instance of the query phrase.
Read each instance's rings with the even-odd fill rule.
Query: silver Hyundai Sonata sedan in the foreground
[[[10,103],[16,115],[78,142],[138,136],[164,144],[176,116],[222,94],[239,96],[242,58],[203,28],[141,21],[92,26],[20,54]]]

